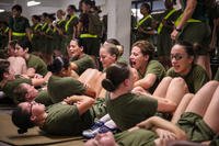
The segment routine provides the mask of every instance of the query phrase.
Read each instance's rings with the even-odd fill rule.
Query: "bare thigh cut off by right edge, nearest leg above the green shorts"
[[[218,111],[219,111],[219,86],[216,89],[212,99],[208,105],[208,109],[204,115],[205,123],[215,132],[219,132],[219,119],[218,119]]]

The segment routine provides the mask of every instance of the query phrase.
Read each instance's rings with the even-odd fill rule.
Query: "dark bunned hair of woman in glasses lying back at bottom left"
[[[22,110],[21,106],[18,106],[12,112],[12,122],[19,127],[18,133],[26,133],[28,128],[34,127],[34,123],[31,121],[31,113]]]

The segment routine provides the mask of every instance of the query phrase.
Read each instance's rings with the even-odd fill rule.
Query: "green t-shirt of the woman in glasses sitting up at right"
[[[182,77],[188,86],[191,93],[196,93],[206,82],[209,81],[206,70],[199,65],[193,65],[191,71],[186,76],[181,76],[175,72],[172,67],[168,70],[166,76],[173,78]]]

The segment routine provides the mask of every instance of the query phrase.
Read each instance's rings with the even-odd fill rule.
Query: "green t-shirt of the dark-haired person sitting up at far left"
[[[36,74],[45,76],[48,70],[47,66],[44,63],[44,60],[33,54],[30,54],[30,58],[26,60],[27,68],[34,68],[36,70]]]

